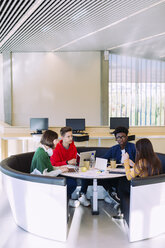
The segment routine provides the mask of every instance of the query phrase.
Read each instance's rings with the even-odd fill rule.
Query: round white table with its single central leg
[[[69,167],[74,168],[74,166]],[[65,172],[61,174],[65,177],[79,178],[79,179],[91,179],[93,180],[93,196],[92,196],[92,214],[98,215],[98,191],[97,191],[97,180],[99,179],[112,179],[116,177],[125,176],[124,168],[108,169],[106,171],[101,171],[95,168],[89,169],[86,172],[76,171],[76,172]]]

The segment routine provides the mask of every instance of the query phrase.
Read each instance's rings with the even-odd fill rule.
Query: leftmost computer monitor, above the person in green
[[[43,130],[48,130],[48,118],[30,118],[30,130],[36,134],[42,134]]]

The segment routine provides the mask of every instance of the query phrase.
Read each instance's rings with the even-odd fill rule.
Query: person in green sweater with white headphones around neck
[[[66,166],[61,166],[60,168],[51,165],[50,156],[53,154],[53,149],[58,143],[58,134],[52,130],[47,130],[43,133],[40,141],[40,146],[36,150],[32,163],[30,172],[32,174],[43,174],[47,176],[58,176],[62,172],[67,172],[68,168]],[[67,196],[68,199],[71,198],[71,194],[76,189],[77,183],[74,179],[67,178]],[[69,200],[69,206],[78,207],[80,205],[79,201]]]

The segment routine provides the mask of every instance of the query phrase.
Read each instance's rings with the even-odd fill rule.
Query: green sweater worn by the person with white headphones
[[[39,170],[41,173],[43,173],[45,169],[48,169],[47,172],[54,170],[47,152],[41,147],[36,150],[33,156],[30,172],[33,172],[34,169]]]

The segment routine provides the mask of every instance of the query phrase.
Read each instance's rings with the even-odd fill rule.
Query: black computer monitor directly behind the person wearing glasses
[[[110,117],[110,129],[126,127],[129,129],[129,117]]]

